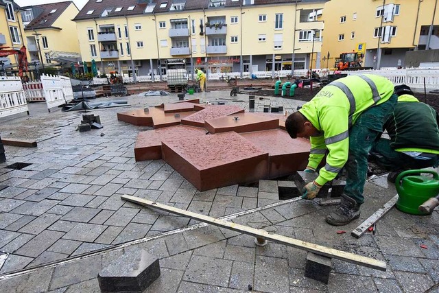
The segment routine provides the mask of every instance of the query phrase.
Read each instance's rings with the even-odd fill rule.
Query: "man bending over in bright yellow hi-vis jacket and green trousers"
[[[346,187],[340,207],[327,215],[334,226],[359,218],[368,171],[368,152],[381,137],[383,124],[397,101],[392,82],[378,75],[350,75],[324,86],[298,112],[289,115],[285,128],[292,139],[309,138],[311,151],[305,172],[316,172],[324,155],[326,165],[303,189],[307,200],[346,169]]]

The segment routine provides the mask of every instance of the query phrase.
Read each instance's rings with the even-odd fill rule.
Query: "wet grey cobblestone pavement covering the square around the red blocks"
[[[246,95],[187,97],[248,110]],[[439,282],[438,211],[414,216],[392,209],[375,235],[350,235],[396,194],[385,178],[366,183],[360,219],[337,234],[340,227],[324,222],[334,207],[299,200],[265,208],[279,201],[272,181],[200,192],[164,161],[134,161],[137,133],[150,128],[117,121],[116,114],[178,98],[126,99],[130,106],[93,110],[104,128],[90,132],[75,130],[84,113],[47,113],[44,104],[30,104],[30,117],[1,121],[2,138],[36,139],[38,148],[6,145],[8,161],[0,164],[0,184],[8,185],[0,191],[0,292],[99,292],[97,273],[131,249],[160,259],[161,277],[145,292],[425,292]],[[303,104],[271,99],[290,113]],[[267,101],[257,99],[257,111]],[[12,163],[31,165],[7,168]],[[231,220],[381,259],[388,270],[333,260],[324,285],[304,277],[303,250],[272,242],[255,247],[254,237],[147,209],[121,200],[123,194],[216,218],[253,209]]]

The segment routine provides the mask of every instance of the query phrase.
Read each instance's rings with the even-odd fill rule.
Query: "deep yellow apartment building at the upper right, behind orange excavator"
[[[405,52],[439,49],[438,0],[331,0],[324,5],[322,67],[342,53],[358,52],[362,65],[404,67]],[[436,18],[434,17],[436,14]],[[430,30],[430,27],[432,30]],[[327,56],[325,56],[327,57]]]

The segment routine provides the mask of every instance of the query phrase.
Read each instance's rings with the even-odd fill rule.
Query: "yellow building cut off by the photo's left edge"
[[[20,49],[25,45],[20,11],[13,0],[0,0],[0,47]],[[17,55],[0,57],[0,74],[16,71],[17,64]]]

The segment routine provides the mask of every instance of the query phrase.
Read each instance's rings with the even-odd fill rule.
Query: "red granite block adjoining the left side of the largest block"
[[[206,130],[204,128],[178,125],[139,132],[136,145],[134,145],[134,158],[136,161],[162,159],[163,139],[171,141],[198,135],[206,135]]]

